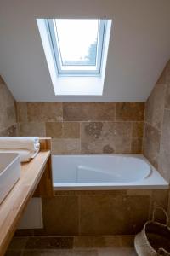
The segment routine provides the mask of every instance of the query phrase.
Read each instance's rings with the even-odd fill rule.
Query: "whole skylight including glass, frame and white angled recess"
[[[112,20],[37,19],[56,96],[101,96]]]

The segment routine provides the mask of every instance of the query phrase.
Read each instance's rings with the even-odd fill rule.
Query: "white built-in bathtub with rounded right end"
[[[168,189],[142,155],[53,155],[54,189]]]

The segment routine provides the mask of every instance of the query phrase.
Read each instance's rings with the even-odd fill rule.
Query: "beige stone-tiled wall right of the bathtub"
[[[146,102],[144,155],[170,182],[170,61]]]

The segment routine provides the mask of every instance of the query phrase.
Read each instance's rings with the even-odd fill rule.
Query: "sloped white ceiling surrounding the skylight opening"
[[[36,18],[113,20],[103,96],[54,96]],[[0,0],[0,74],[20,102],[143,102],[170,58],[169,0]]]

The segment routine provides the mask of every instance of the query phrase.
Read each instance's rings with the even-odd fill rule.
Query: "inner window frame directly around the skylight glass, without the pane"
[[[59,52],[59,38],[55,24],[56,19],[45,19],[49,41],[51,43],[55,67],[59,76],[100,76],[104,55],[105,31],[107,20],[98,20],[98,41],[95,65],[63,65]]]

